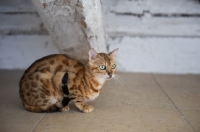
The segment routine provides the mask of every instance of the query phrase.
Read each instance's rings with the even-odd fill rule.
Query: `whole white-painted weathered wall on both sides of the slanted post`
[[[119,47],[120,71],[200,74],[200,3],[170,1],[103,0],[107,47]],[[30,2],[1,1],[0,18],[0,69],[58,53]]]

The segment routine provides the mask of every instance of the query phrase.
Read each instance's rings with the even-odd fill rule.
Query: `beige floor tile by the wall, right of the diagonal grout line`
[[[200,75],[155,75],[155,78],[178,108],[200,108]]]

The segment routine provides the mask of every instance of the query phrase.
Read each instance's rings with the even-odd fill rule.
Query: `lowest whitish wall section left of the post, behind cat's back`
[[[47,35],[4,36],[0,40],[2,69],[26,69],[43,56],[59,53]]]

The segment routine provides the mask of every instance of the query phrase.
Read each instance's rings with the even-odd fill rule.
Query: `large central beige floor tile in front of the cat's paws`
[[[34,132],[192,132],[151,74],[119,74],[123,84],[108,81],[90,102],[92,113],[81,113],[72,104],[69,112],[47,114]]]

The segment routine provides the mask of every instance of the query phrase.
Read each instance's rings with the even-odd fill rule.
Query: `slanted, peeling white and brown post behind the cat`
[[[101,0],[32,0],[60,53],[85,62],[88,50],[105,52]]]

